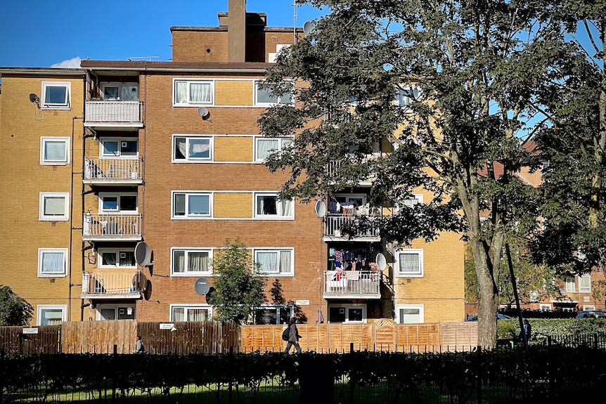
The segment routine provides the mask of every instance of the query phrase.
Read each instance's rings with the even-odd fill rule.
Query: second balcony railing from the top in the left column
[[[134,159],[84,158],[84,179],[94,185],[133,185],[143,183],[143,157]]]

